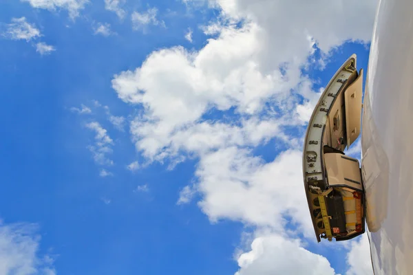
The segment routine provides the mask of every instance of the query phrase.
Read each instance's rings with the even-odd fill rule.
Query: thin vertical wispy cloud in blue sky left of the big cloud
[[[107,135],[106,129],[100,126],[98,122],[90,122],[86,124],[86,127],[96,133],[95,144],[87,147],[92,152],[94,161],[100,165],[113,165],[114,162],[107,157],[107,154],[113,152],[111,146],[114,142]]]

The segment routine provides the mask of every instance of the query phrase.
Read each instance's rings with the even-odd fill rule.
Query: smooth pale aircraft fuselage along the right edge
[[[413,1],[381,0],[363,108],[361,173],[374,273],[413,270]]]

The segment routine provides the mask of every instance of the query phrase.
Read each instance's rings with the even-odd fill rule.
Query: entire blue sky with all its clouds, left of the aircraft
[[[2,1],[0,274],[371,274],[300,150],[376,1],[321,2]]]

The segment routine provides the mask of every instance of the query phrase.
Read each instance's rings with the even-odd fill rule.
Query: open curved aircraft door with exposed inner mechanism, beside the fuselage
[[[358,159],[344,155],[360,135],[363,69],[353,54],[332,77],[308,122],[304,186],[317,241],[352,239],[365,231]]]

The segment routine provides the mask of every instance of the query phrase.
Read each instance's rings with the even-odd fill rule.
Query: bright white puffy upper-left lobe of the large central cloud
[[[294,86],[278,71],[262,74],[250,60],[260,47],[251,34],[255,30],[227,30],[222,34],[226,39],[211,39],[195,54],[182,47],[153,52],[142,67],[121,73],[112,84],[122,100],[147,105],[154,118],[176,113],[169,118],[173,126],[197,120],[209,107],[224,111],[237,106],[242,113],[257,113],[262,100]]]

